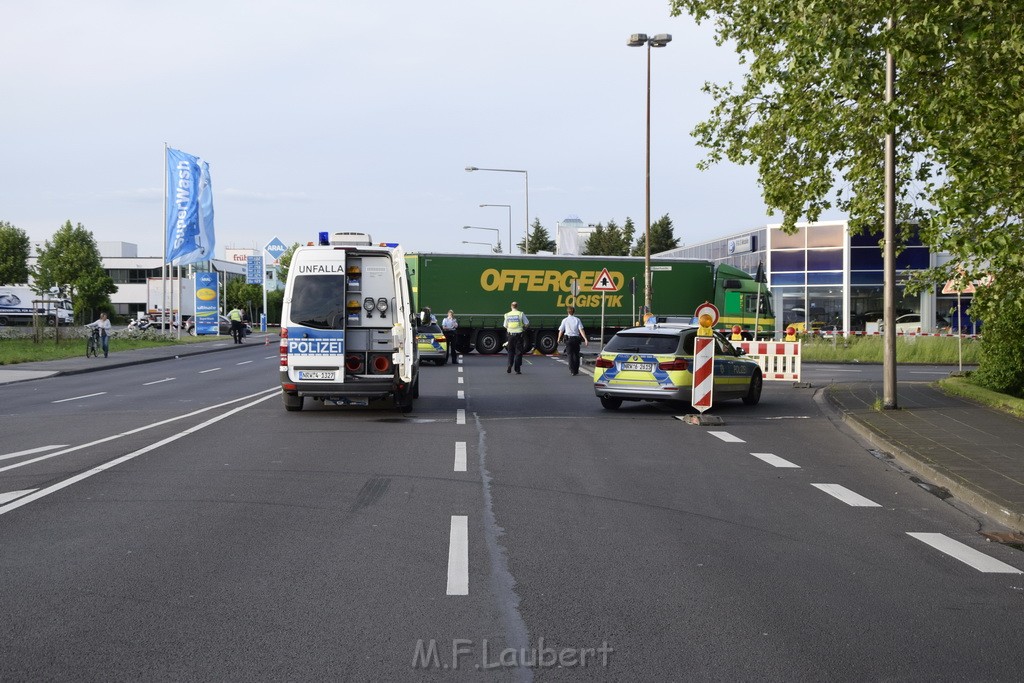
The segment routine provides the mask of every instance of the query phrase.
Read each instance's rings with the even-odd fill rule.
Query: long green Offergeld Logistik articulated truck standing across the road
[[[556,349],[558,324],[575,306],[588,335],[605,338],[641,318],[644,259],[628,256],[406,255],[417,310],[440,319],[451,308],[459,318],[461,353],[501,351],[504,315],[513,301],[529,317],[529,343],[542,353]],[[651,259],[651,309],[659,321],[689,322],[696,307],[713,302],[719,329],[738,325],[752,338],[771,334],[775,316],[767,288],[728,265],[692,259]],[[604,270],[615,291],[595,291]],[[760,290],[760,291],[759,291]],[[760,301],[760,313],[758,312]]]

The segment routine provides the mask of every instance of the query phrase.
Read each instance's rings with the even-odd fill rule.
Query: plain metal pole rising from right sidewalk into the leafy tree
[[[888,22],[889,32],[892,33],[893,20]],[[891,109],[895,98],[896,84],[896,60],[892,50],[886,50],[886,111]],[[886,131],[886,157],[885,157],[885,246],[883,248],[883,267],[885,270],[885,286],[883,296],[883,321],[885,321],[885,334],[883,335],[883,382],[882,400],[883,408],[893,411],[897,408],[896,401],[896,132],[893,129]]]

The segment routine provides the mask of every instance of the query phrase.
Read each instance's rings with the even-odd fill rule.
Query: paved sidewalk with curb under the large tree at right
[[[1024,532],[1024,420],[930,383],[897,382],[898,410],[876,410],[881,382],[824,390],[842,420],[928,483]],[[941,494],[941,492],[939,492]]]

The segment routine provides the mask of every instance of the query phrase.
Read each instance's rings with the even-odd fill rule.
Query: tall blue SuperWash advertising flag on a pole
[[[167,261],[188,265],[213,258],[213,187],[210,165],[167,148]]]

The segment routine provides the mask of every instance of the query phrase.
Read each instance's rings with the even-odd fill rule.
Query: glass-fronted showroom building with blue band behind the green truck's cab
[[[879,234],[851,236],[847,221],[802,223],[792,234],[770,224],[657,256],[728,263],[751,274],[764,263],[780,331],[792,325],[798,331],[872,333],[883,311],[880,240]],[[896,315],[920,315],[922,332],[941,331],[955,319],[956,295],[943,295],[941,288],[909,295],[907,274],[947,259],[916,238],[896,257]],[[969,305],[970,297],[963,297],[961,307]]]

